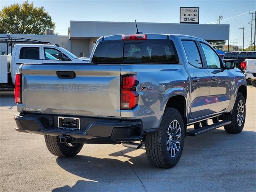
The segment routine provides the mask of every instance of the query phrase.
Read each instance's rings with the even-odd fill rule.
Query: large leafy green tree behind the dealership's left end
[[[44,7],[34,7],[33,3],[12,4],[0,11],[1,34],[44,34],[46,29],[54,29],[55,23]]]

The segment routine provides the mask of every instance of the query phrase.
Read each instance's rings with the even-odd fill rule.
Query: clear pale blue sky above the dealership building
[[[0,8],[24,0],[0,0]],[[215,22],[256,9],[256,0],[34,0],[34,6],[44,6],[56,23],[55,32],[67,35],[70,20],[128,21],[179,23],[180,6],[200,7],[200,24]],[[237,16],[221,22],[230,24],[230,42],[242,46],[242,29],[245,27],[244,45],[250,40],[251,14]],[[253,31],[254,32],[254,31]]]

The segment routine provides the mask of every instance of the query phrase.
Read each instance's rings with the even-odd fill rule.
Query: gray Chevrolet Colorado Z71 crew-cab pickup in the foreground
[[[86,143],[145,144],[151,164],[171,168],[185,136],[244,127],[244,74],[192,36],[104,36],[89,63],[23,64],[19,72],[16,130],[43,134],[59,157]]]

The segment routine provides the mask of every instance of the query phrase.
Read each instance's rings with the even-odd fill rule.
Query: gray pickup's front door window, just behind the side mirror
[[[218,55],[210,48],[210,46],[200,43],[206,58],[206,64],[208,68],[221,68],[220,59]]]

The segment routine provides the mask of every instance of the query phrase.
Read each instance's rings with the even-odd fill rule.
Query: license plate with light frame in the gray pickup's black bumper
[[[79,131],[80,119],[76,117],[58,117],[58,128],[65,131]]]

